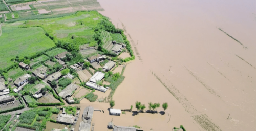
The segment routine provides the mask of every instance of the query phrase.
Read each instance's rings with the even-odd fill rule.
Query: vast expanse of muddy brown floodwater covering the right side
[[[147,107],[168,102],[172,116],[167,123],[138,115],[147,118],[120,119],[118,125],[256,130],[255,1],[99,2],[105,9],[100,13],[126,30],[136,51],[113,96],[115,108],[137,100]]]

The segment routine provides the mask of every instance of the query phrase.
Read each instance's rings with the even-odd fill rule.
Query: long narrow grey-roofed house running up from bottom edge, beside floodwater
[[[86,108],[84,108],[79,131],[90,131],[93,112],[94,112],[94,107],[92,106],[87,106]]]

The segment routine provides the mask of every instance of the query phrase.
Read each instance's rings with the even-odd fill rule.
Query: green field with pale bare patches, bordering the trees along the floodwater
[[[29,21],[19,21],[23,24],[5,24],[6,26],[41,26],[45,29],[50,36],[54,37],[54,40],[71,40],[74,38],[83,38],[80,44],[89,43],[94,35],[94,27],[103,18],[101,14],[97,11],[90,12],[77,12],[70,16],[50,18],[50,19],[39,19],[39,20],[29,20]],[[99,18],[94,20],[94,18]],[[25,23],[24,23],[25,22]],[[86,40],[87,39],[87,40]],[[90,39],[90,40],[88,40]]]

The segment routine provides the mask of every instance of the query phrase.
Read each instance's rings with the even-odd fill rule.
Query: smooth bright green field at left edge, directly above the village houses
[[[2,26],[0,36],[0,69],[12,65],[12,58],[35,55],[55,46],[42,28],[18,28]]]

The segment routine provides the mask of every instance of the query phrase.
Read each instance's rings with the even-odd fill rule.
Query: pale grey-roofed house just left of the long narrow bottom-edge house
[[[61,124],[75,124],[75,116],[68,114],[59,114],[56,121]]]

